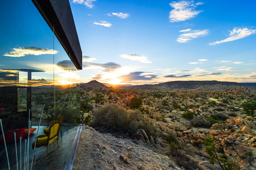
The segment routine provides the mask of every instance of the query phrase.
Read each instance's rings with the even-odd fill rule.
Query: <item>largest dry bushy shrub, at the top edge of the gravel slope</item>
[[[144,129],[146,134],[156,138],[156,129],[143,117],[139,110],[126,111],[123,107],[108,104],[93,110],[90,125],[100,131],[135,136],[138,129]]]

